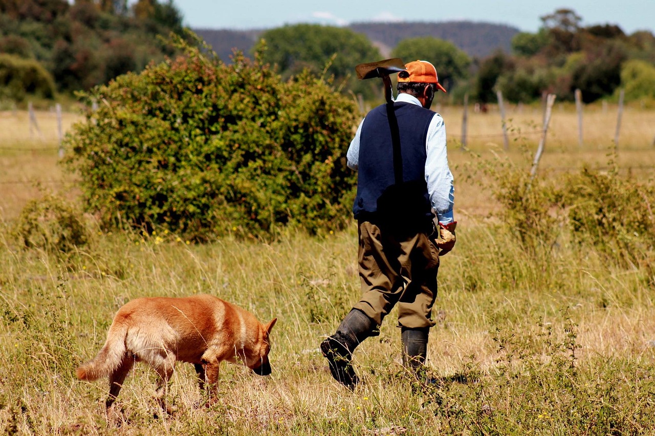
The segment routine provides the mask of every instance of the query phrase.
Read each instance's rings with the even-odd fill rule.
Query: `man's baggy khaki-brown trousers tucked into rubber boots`
[[[425,233],[399,237],[369,221],[359,225],[359,274],[362,299],[354,308],[378,325],[398,304],[398,324],[432,327],[437,298],[439,251]]]

